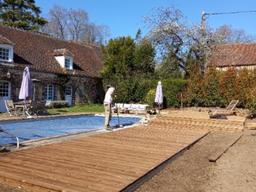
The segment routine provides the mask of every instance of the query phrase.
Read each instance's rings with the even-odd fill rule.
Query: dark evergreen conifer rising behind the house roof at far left
[[[47,23],[34,0],[0,0],[0,23],[25,30],[38,30]]]

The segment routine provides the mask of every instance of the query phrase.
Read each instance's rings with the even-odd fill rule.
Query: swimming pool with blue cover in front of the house
[[[138,117],[119,117],[120,124],[132,124],[138,122]],[[105,116],[79,116],[63,117],[40,120],[21,120],[13,122],[0,122],[6,132],[18,136],[20,142],[45,138],[56,135],[82,132],[86,130],[97,130],[104,128]],[[118,124],[118,118],[112,116],[110,126]],[[0,145],[15,144],[16,139],[8,134],[0,132]]]

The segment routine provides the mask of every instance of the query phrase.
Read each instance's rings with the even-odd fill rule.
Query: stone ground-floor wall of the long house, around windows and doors
[[[10,78],[7,78],[6,73],[10,71]],[[0,68],[0,80],[11,82],[11,98],[14,102],[18,101],[20,86],[22,82],[23,70]],[[31,82],[32,96],[35,86],[35,100],[44,100],[44,87],[46,84],[54,85],[54,100],[60,100],[60,82],[58,82],[56,74],[30,71],[30,79],[38,79],[40,82]],[[57,83],[57,84],[56,84]],[[94,102],[103,102],[102,100],[102,81],[95,78],[70,77],[67,86],[72,86],[72,105],[88,104]],[[102,100],[102,101],[101,101]]]

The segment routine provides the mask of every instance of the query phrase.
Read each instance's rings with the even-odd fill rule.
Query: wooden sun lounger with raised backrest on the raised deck
[[[236,109],[236,105],[238,104],[239,100],[232,100],[230,104],[227,106],[226,109],[210,109],[207,111],[207,114],[214,117],[214,116],[220,116],[220,115],[233,115],[238,112]]]

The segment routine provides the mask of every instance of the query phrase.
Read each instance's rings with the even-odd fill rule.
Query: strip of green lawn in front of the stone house
[[[64,108],[49,109],[50,114],[76,113],[76,112],[104,112],[103,104],[88,104]]]

